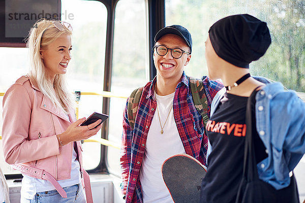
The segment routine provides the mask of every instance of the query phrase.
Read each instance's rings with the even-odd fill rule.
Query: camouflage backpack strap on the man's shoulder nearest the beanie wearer
[[[197,111],[201,114],[203,119],[204,128],[206,126],[206,123],[208,121],[208,107],[207,107],[207,99],[204,92],[204,87],[201,79],[190,78],[190,89],[192,92],[192,98],[194,101],[194,105],[197,109]]]

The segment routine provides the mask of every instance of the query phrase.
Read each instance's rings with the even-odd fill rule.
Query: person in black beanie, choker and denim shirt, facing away
[[[299,202],[293,169],[305,153],[305,103],[281,83],[249,74],[249,64],[271,44],[267,24],[248,14],[233,15],[217,21],[208,33],[208,76],[221,79],[225,87],[212,101],[206,125],[207,173],[200,202]],[[248,140],[254,155],[245,158]],[[250,159],[253,174],[267,189],[257,188],[262,198],[255,193],[254,201],[249,196],[239,201],[244,181],[250,180],[243,179],[251,168],[248,162],[243,173],[244,160]]]

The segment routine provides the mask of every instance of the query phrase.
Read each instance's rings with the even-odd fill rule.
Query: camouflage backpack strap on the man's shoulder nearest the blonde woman
[[[143,87],[135,89],[128,99],[128,106],[127,106],[127,115],[129,125],[133,129],[135,127],[135,120],[138,112],[138,106],[141,99]]]

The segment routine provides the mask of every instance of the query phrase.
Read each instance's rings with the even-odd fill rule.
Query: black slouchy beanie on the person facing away
[[[267,24],[249,14],[220,19],[208,32],[217,55],[238,67],[249,68],[271,44]]]

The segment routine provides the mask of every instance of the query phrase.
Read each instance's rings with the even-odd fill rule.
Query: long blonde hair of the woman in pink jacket
[[[65,75],[55,75],[53,84],[47,79],[40,51],[46,49],[48,45],[64,34],[71,36],[72,31],[65,26],[63,26],[64,30],[59,30],[52,21],[41,19],[29,31],[26,46],[29,49],[31,70],[28,77],[36,83],[45,96],[50,98],[55,107],[68,113],[68,110],[75,106],[75,96],[68,90]]]

